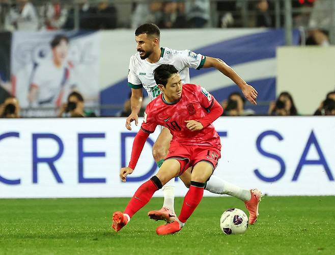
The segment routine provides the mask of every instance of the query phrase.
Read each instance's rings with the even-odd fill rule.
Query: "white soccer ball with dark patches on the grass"
[[[231,208],[222,213],[220,218],[220,228],[226,235],[242,234],[248,227],[248,217],[236,208]]]

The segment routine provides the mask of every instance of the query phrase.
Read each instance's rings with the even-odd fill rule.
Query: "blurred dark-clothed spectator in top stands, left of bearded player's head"
[[[117,27],[117,9],[108,1],[99,1],[98,7],[93,11],[93,29],[115,29]]]

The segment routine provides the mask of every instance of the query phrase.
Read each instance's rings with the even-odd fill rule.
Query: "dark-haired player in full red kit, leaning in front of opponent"
[[[121,180],[125,182],[126,176],[133,172],[149,134],[155,131],[157,125],[167,127],[173,138],[169,154],[158,173],[137,189],[123,213],[113,214],[112,227],[117,232],[149,202],[158,189],[176,176],[189,186],[189,190],[177,220],[158,226],[156,233],[166,235],[180,231],[199,205],[205,182],[220,158],[220,138],[212,122],[223,110],[215,98],[200,86],[183,85],[173,65],[158,66],[154,78],[162,94],[146,108],[141,130],[134,139],[130,163],[120,170]],[[191,171],[190,180],[187,171]]]

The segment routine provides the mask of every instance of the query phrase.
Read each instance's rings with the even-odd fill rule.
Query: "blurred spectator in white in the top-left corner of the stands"
[[[5,30],[38,30],[38,16],[35,7],[28,0],[16,0],[5,18]]]

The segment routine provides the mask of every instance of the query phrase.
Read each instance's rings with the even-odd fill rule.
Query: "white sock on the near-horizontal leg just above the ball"
[[[212,175],[207,182],[206,190],[215,194],[234,196],[242,201],[248,201],[251,198],[249,190],[245,190],[234,184],[228,183],[215,175]]]

